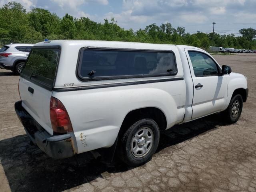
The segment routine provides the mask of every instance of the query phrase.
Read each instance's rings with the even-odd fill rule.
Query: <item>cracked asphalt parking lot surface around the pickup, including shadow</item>
[[[30,146],[15,111],[18,76],[0,69],[0,192],[256,191],[256,54],[214,56],[248,77],[240,120],[219,114],[166,131],[147,164],[96,161],[90,152],[53,160]]]

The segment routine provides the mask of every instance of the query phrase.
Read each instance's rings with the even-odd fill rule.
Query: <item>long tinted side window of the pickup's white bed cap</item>
[[[77,72],[82,80],[168,76],[177,66],[172,51],[83,48]]]

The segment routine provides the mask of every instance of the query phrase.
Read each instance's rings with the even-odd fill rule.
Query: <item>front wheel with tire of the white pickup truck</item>
[[[243,108],[243,99],[240,94],[232,97],[228,108],[223,112],[224,120],[230,124],[237,122],[240,118]]]

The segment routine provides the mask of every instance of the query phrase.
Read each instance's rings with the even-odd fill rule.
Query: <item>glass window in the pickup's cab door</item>
[[[208,55],[196,51],[188,51],[188,54],[196,77],[219,74],[218,66]]]

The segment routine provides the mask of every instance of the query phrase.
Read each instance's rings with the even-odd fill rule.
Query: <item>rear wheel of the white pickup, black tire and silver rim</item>
[[[120,158],[129,166],[148,162],[159,144],[160,131],[156,122],[144,118],[130,126],[120,139]]]

